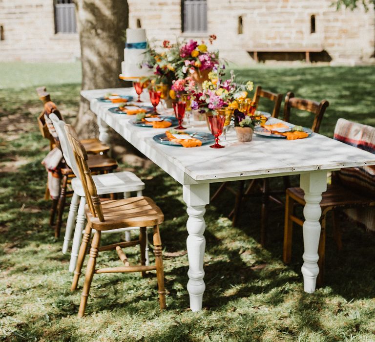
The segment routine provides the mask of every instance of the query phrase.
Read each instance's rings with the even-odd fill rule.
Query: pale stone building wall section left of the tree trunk
[[[78,34],[55,34],[53,0],[0,0],[0,61],[74,61]]]

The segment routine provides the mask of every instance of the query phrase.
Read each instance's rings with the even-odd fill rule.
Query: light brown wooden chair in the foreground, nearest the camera
[[[83,184],[85,197],[87,200],[86,216],[87,225],[83,235],[80,252],[78,256],[76,270],[71,286],[71,290],[77,289],[78,280],[81,274],[83,260],[86,255],[88,241],[93,229],[94,236],[91,241],[91,249],[87,262],[86,276],[83,285],[81,304],[78,316],[83,317],[87,297],[89,295],[90,286],[94,274],[113,273],[113,272],[141,272],[145,275],[146,271],[156,270],[158,279],[158,293],[160,301],[160,309],[166,308],[166,298],[164,289],[164,269],[162,258],[162,243],[159,233],[159,224],[164,220],[162,211],[156,206],[151,198],[148,197],[131,197],[119,200],[108,200],[103,203],[99,200],[95,183],[92,179],[90,169],[87,164],[87,154],[83,145],[74,138],[74,131],[70,125],[65,126],[70,145],[74,151],[74,156],[79,169],[79,176]],[[139,226],[140,235],[138,240],[119,242],[108,246],[100,247],[102,231],[108,231],[123,227]],[[146,244],[146,227],[153,227],[153,244],[155,253],[155,265],[146,266],[145,244]],[[141,249],[141,265],[130,265],[122,247],[140,245]],[[116,250],[124,266],[105,267],[96,269],[96,258],[99,252]]]

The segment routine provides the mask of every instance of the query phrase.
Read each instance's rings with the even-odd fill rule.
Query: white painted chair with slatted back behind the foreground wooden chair
[[[49,118],[55,127],[58,134],[60,145],[62,148],[62,154],[64,156],[66,164],[73,170],[75,175],[78,175],[78,167],[74,158],[73,151],[68,144],[68,140],[65,133],[65,122],[60,120],[57,115],[50,114]],[[131,192],[136,192],[137,196],[142,196],[142,190],[145,189],[145,183],[142,182],[133,172],[121,171],[106,174],[98,174],[93,176],[95,186],[99,195],[109,194],[109,193],[124,193],[124,197],[130,197]],[[73,231],[74,222],[76,222],[74,237],[72,243],[72,251],[69,263],[69,272],[74,272],[77,263],[77,257],[79,248],[81,245],[82,234],[85,222],[85,212],[84,207],[86,204],[85,194],[81,180],[76,177],[71,181],[71,186],[73,188],[73,197],[70,202],[68,219],[66,221],[66,229],[64,242],[62,245],[62,253],[65,254],[68,250],[69,242],[71,240],[71,235]],[[78,209],[78,211],[77,211]],[[120,228],[115,230],[110,230],[108,233],[118,233],[125,231],[125,240],[130,241],[130,231],[139,230],[139,227],[130,228]],[[148,239],[146,236],[146,265],[148,265]]]

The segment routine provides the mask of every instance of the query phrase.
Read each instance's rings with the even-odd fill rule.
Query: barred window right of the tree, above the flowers
[[[207,32],[207,0],[181,0],[182,32]]]

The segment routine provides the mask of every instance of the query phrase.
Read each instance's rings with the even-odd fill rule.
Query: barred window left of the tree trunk
[[[76,33],[74,0],[54,0],[55,33]]]

